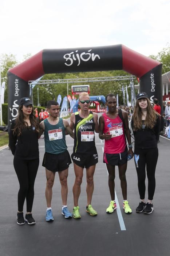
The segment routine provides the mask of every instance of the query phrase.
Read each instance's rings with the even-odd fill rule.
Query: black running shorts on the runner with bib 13
[[[64,151],[61,154],[50,154],[45,152],[42,166],[51,172],[60,172],[66,170],[71,163],[70,154]]]

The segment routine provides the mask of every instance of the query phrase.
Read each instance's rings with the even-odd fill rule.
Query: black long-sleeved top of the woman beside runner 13
[[[39,158],[38,133],[35,131],[35,127],[25,127],[20,136],[13,134],[14,127],[15,120],[12,121],[9,133],[9,146],[12,154],[24,160]]]

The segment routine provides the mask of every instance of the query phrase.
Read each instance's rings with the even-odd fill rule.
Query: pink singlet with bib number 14
[[[126,149],[126,139],[124,136],[123,122],[119,116],[111,119],[106,113],[102,114],[104,118],[103,133],[109,132],[112,134],[110,140],[105,140],[104,153],[106,154],[119,154],[123,153]]]

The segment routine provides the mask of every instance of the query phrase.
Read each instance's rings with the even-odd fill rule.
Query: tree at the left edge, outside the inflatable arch
[[[5,82],[4,103],[7,103],[8,102],[7,72],[8,72],[8,69],[17,65],[16,56],[13,54],[1,54],[0,63],[1,63],[1,82]]]

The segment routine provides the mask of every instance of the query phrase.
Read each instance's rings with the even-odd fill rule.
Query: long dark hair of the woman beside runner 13
[[[15,119],[15,127],[13,129],[13,134],[16,134],[17,136],[20,136],[22,133],[21,131],[25,127],[28,127],[28,123],[24,121],[25,117],[24,117],[22,108],[23,108],[23,105],[20,105],[18,109],[18,116]],[[35,118],[33,106],[32,106],[31,114],[29,115],[29,120],[30,120],[31,126],[35,127],[35,132],[39,132],[39,123]]]

